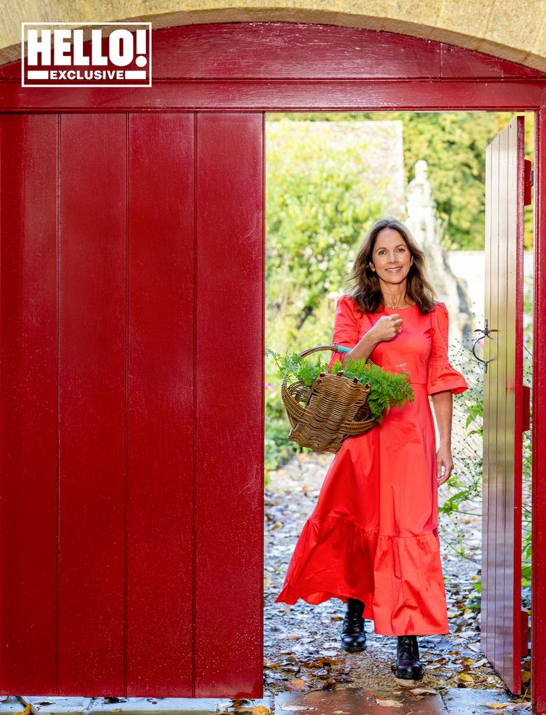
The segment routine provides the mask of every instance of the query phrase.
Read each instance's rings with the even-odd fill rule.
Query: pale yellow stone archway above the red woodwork
[[[107,0],[76,4],[67,0],[44,6],[39,0],[7,0],[0,30],[0,64],[21,56],[21,21],[87,22],[143,20],[154,29],[212,22],[287,21],[334,24],[407,34],[447,42],[527,64],[546,71],[546,16],[541,0],[525,0],[525,14],[513,14],[510,0],[480,3],[400,4],[397,0],[354,3],[352,0],[295,0],[270,6],[268,0],[126,0],[115,11]],[[542,26],[537,19],[543,16]],[[87,38],[86,38],[87,39]]]

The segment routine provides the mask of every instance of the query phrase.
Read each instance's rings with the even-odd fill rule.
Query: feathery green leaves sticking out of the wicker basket
[[[317,363],[311,363],[297,352],[280,355],[269,348],[265,352],[266,355],[272,355],[282,378],[285,373],[288,373],[289,377],[302,380],[307,387],[311,387],[321,373],[328,372],[329,363],[321,358]],[[379,365],[368,363],[364,359],[348,359],[345,365],[338,360],[332,366],[332,375],[337,375],[341,371],[345,378],[357,378],[362,385],[369,385],[367,404],[372,418],[377,423],[382,423],[385,413],[388,413],[390,408],[402,407],[408,401],[412,403],[415,400],[409,373],[389,373]]]

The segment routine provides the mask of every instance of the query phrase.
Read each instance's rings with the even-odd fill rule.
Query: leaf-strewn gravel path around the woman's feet
[[[339,648],[345,605],[337,598],[311,606],[273,603],[282,588],[294,544],[316,503],[332,454],[299,454],[272,472],[265,495],[265,689],[284,690],[364,687],[388,693],[397,688],[390,665],[396,638],[378,636],[366,621],[367,649],[348,654]],[[440,487],[441,489],[442,487]],[[440,542],[442,543],[440,515]],[[471,558],[457,558],[442,543],[450,633],[420,636],[425,663],[421,687],[499,689],[503,683],[480,651],[479,601],[469,601],[480,575],[480,515],[460,520]],[[448,525],[446,525],[448,526]],[[473,607],[471,607],[473,606]],[[530,670],[530,666],[525,669]],[[527,694],[528,698],[528,694]],[[515,698],[515,701],[517,698]]]

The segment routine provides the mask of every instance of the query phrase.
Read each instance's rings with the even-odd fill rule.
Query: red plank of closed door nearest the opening
[[[262,693],[263,161],[262,114],[198,114],[197,697]]]

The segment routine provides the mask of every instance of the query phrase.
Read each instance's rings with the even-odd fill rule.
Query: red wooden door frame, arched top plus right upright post
[[[535,112],[532,701],[545,712],[546,672],[538,665],[546,662],[546,559],[537,556],[546,549],[546,380],[539,379],[546,320],[536,317],[546,310],[546,75],[445,43],[337,25],[184,25],[154,29],[152,38],[150,88],[23,88],[16,61],[0,66],[0,112]]]

